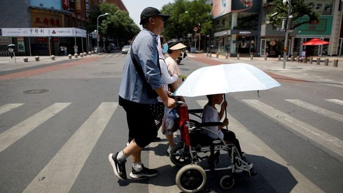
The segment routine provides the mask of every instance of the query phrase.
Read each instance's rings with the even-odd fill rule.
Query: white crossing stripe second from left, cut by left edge
[[[66,108],[70,102],[65,103],[54,103],[46,109],[34,114],[30,118],[24,120],[23,122],[17,124],[16,126],[7,129],[0,133],[0,152],[6,149],[8,146],[12,145],[18,139],[22,138],[40,124],[44,123],[46,120],[50,119],[58,112]]]

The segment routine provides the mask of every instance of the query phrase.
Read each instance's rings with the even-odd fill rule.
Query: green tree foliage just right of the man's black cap
[[[206,0],[175,0],[173,3],[164,5],[162,13],[170,14],[171,17],[165,22],[165,30],[162,33],[167,39],[184,38],[188,33],[194,34],[193,28],[201,26],[202,34],[212,32],[212,6],[205,3]]]

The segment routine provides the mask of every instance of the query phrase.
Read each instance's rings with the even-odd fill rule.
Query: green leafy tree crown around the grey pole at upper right
[[[268,20],[269,24],[273,26],[273,29],[276,28],[276,26],[282,24],[282,20],[287,18],[288,13],[288,6],[284,5],[282,3],[282,0],[274,0],[273,3],[275,4],[274,9],[268,13]],[[276,16],[273,16],[273,13],[276,13]],[[310,3],[306,3],[305,0],[292,0],[292,15],[293,18],[290,24],[290,30],[293,30],[303,24],[308,24],[313,21],[319,21],[319,14],[312,11],[312,6]],[[303,16],[309,16],[309,19],[303,22],[298,22],[299,18]]]

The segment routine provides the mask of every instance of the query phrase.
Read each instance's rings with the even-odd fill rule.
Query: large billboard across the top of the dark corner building
[[[260,12],[261,0],[213,0],[213,18],[230,12]]]

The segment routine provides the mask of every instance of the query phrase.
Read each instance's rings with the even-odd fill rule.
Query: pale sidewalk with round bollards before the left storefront
[[[102,54],[102,53],[100,53]],[[31,67],[36,65],[42,65],[42,64],[52,64],[52,63],[58,63],[63,61],[73,61],[73,60],[80,60],[84,58],[94,57],[97,56],[97,54],[93,54],[91,56],[87,55],[86,57],[80,57],[76,59],[74,56],[72,56],[71,59],[68,58],[68,56],[55,56],[55,60],[51,60],[50,56],[39,56],[39,61],[35,61],[35,56],[16,56],[16,63],[14,61],[14,58],[6,57],[6,58],[0,58],[0,72],[1,71],[7,71],[7,70],[14,70],[24,67]],[[24,62],[24,58],[28,57],[29,62]]]

